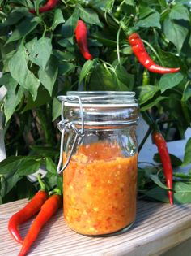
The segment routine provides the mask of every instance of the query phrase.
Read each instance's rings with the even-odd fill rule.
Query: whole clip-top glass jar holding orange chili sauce
[[[57,172],[64,218],[86,236],[112,236],[134,223],[138,103],[134,92],[68,92],[62,101]]]

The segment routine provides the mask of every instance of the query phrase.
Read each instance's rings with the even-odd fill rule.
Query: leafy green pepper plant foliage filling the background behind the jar
[[[134,90],[141,113],[157,120],[167,140],[172,128],[176,132],[171,136],[181,139],[190,126],[190,1],[60,0],[41,12],[46,2],[0,0],[0,86],[6,88],[1,111],[7,155],[0,163],[2,203],[35,193],[36,182],[28,175],[39,167],[47,171],[49,188],[62,187],[62,178],[56,175],[56,124],[61,112],[57,96],[68,90]],[[84,59],[78,47],[78,20],[87,25],[92,59]],[[147,71],[129,45],[127,35],[134,32],[155,63],[180,71]],[[183,163],[173,159],[187,165],[190,156],[191,139]],[[151,190],[163,188],[158,171],[140,169],[138,184],[147,196],[165,202],[166,197]],[[175,184],[176,201],[191,202],[190,178],[188,174],[186,182]]]

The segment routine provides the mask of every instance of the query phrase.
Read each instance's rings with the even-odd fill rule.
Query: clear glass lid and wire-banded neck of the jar
[[[62,101],[62,118],[86,128],[137,123],[138,103],[134,92],[67,92]]]

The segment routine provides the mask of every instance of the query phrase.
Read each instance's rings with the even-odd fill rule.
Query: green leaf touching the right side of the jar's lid
[[[155,93],[159,91],[158,86],[145,85],[137,88],[138,102],[140,105],[144,104],[148,100],[154,97]]]

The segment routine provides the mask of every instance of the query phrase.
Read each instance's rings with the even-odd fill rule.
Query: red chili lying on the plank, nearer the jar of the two
[[[19,252],[18,256],[24,256],[28,253],[32,243],[36,241],[41,228],[48,222],[57,209],[62,204],[62,197],[58,194],[53,194],[49,199],[46,200],[44,205],[41,207],[39,214],[36,219],[32,222],[31,227],[28,230],[27,236],[25,236],[23,241],[23,246]]]

